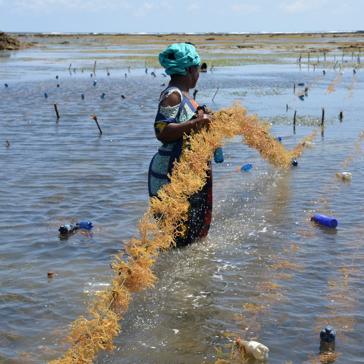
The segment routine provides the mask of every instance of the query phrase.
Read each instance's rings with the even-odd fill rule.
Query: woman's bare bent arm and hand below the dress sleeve
[[[192,129],[200,129],[204,126],[208,126],[212,119],[210,115],[203,114],[197,119],[186,121],[185,123],[174,124],[170,123],[166,125],[159,133],[157,139],[161,142],[170,142],[179,139],[183,134],[188,134]]]

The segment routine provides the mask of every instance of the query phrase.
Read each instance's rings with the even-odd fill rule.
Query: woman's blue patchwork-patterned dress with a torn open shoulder
[[[162,106],[161,102],[173,92],[178,92],[181,95],[181,103],[173,107]],[[183,95],[178,88],[167,88],[162,92],[159,99],[158,112],[154,123],[155,135],[158,137],[159,133],[169,123],[190,121],[196,115],[197,107],[197,103]],[[149,166],[148,189],[150,197],[157,196],[158,190],[170,182],[167,174],[171,174],[174,161],[177,159],[179,162],[182,151],[186,147],[183,137],[165,142],[159,147],[158,153],[154,155]],[[194,239],[206,236],[209,232],[212,213],[212,169],[211,162],[208,163],[210,168],[206,172],[207,182],[201,191],[196,192],[189,198],[188,219],[184,223],[186,231],[183,236],[176,239],[177,246],[190,244]]]

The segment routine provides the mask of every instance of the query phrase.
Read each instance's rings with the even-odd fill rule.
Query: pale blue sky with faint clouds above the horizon
[[[0,0],[4,32],[364,30],[363,0]]]

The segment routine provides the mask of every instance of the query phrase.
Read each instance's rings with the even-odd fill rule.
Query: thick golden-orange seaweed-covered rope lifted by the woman
[[[71,323],[67,343],[71,344],[63,358],[52,360],[51,364],[91,364],[100,349],[109,353],[115,348],[114,338],[120,332],[118,320],[127,312],[130,293],[154,287],[157,277],[150,269],[159,256],[175,245],[175,237],[185,232],[188,198],[206,183],[207,161],[214,150],[242,135],[244,144],[256,149],[262,158],[276,167],[286,168],[291,155],[299,157],[303,146],[287,151],[281,143],[269,135],[270,124],[261,122],[257,116],[246,115],[246,108],[240,102],[214,115],[209,128],[189,135],[189,148],[185,149],[180,161],[174,162],[170,183],[158,191],[158,198],[150,198],[147,212],[139,220],[136,229],[140,236],[133,236],[124,245],[124,252],[112,254],[111,268],[115,277],[111,279],[112,289],[96,293],[97,300],[89,302],[88,320],[80,316]],[[184,138],[186,138],[185,136]],[[306,138],[307,139],[307,138]],[[161,214],[158,220],[154,218]],[[110,288],[109,288],[110,289]],[[93,317],[93,319],[92,319]]]

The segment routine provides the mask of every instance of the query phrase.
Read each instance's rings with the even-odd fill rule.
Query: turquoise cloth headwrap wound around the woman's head
[[[168,56],[173,53],[175,59],[169,59]],[[159,63],[166,69],[167,75],[186,75],[186,68],[197,66],[201,59],[192,44],[174,43],[159,54]]]

